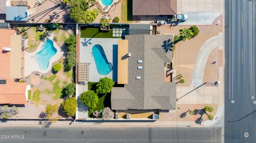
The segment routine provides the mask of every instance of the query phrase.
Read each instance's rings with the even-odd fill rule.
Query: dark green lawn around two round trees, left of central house
[[[89,82],[88,83],[88,90],[96,90],[95,86],[96,86],[97,82]],[[108,93],[107,95],[98,95],[99,96],[99,103],[97,104],[97,106],[95,108],[92,108],[92,111],[103,111],[103,108],[105,107],[110,107],[111,108],[111,100],[110,100],[110,93]],[[92,111],[88,111],[89,117],[93,117],[92,115]],[[98,117],[102,117],[102,114],[100,114]]]

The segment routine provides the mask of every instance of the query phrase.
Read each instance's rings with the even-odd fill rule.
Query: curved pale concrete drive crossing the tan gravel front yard
[[[201,47],[194,66],[194,71],[192,75],[192,83],[191,86],[197,87],[202,85],[203,76],[204,76],[204,68],[207,62],[207,59],[210,53],[216,47],[221,47],[223,45],[223,33],[220,33],[218,36],[214,36],[208,39],[204,45]]]

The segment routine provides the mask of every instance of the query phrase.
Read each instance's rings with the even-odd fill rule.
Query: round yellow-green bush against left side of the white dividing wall
[[[68,116],[75,116],[77,107],[76,97],[71,97],[61,104],[61,108]]]

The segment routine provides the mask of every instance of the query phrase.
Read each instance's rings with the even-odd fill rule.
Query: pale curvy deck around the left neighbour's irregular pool
[[[42,41],[39,46],[37,47],[36,51],[33,53],[29,53],[29,52],[25,52],[25,77],[27,77],[30,73],[34,72],[34,71],[38,71],[41,73],[46,73],[49,72],[52,69],[52,64],[55,61],[58,61],[59,58],[64,54],[64,52],[60,49],[60,47],[57,45],[56,42],[53,41],[53,46],[57,49],[57,53],[51,58],[50,62],[49,62],[49,66],[46,70],[41,70],[39,67],[39,64],[36,62],[35,60],[35,55],[41,51],[41,48],[43,47],[45,41],[47,39],[53,40],[54,35],[50,34],[47,38],[44,39],[44,41]]]

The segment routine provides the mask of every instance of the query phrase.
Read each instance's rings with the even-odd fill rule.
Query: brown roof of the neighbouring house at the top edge
[[[177,0],[133,0],[133,15],[177,14]]]

